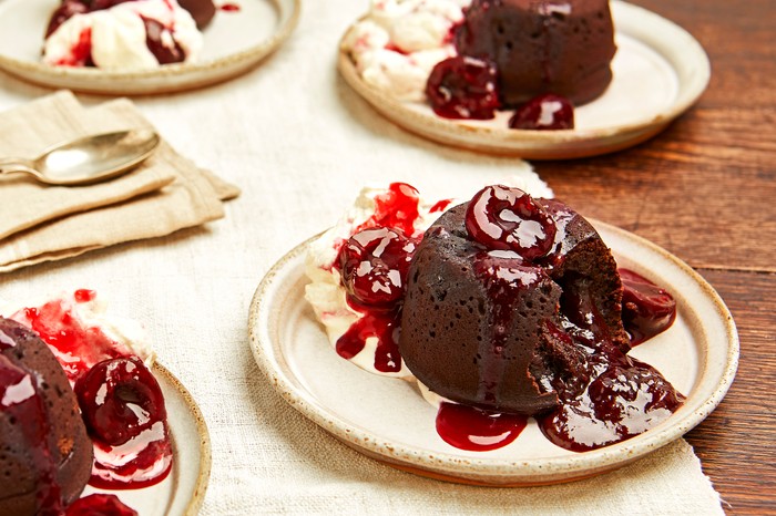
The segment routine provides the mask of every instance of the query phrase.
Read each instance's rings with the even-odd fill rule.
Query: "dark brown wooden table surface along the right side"
[[[557,197],[668,249],[725,300],[738,373],[686,437],[728,514],[776,514],[776,1],[633,3],[701,42],[708,89],[637,147],[534,165]]]

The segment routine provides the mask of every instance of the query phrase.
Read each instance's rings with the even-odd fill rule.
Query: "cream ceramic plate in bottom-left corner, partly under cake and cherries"
[[[86,486],[90,493],[112,493],[141,516],[195,516],[211,475],[211,441],[200,407],[186,388],[163,365],[153,368],[167,409],[173,444],[173,468],[161,483],[142,489],[108,491]]]

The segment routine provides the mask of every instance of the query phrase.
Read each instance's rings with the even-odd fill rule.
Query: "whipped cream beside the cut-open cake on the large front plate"
[[[409,186],[408,186],[409,187]],[[316,317],[326,329],[333,347],[364,313],[351,307],[346,297],[345,287],[335,261],[343,245],[359,229],[369,227],[376,213],[378,196],[385,195],[385,188],[364,188],[354,205],[346,210],[339,221],[309,245],[305,271],[310,282],[305,287],[305,298],[312,305]],[[447,205],[448,203],[443,203]],[[439,203],[428,203],[420,198],[418,217],[413,220],[413,236],[422,233],[441,215]],[[378,338],[366,339],[365,348],[349,359],[361,369],[387,376],[411,379],[412,374],[401,364],[398,372],[382,372],[375,368],[375,352]]]

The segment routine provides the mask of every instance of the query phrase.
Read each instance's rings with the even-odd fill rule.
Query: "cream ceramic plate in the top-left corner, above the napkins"
[[[50,66],[40,61],[43,34],[58,0],[0,0],[0,69],[44,86],[85,93],[169,93],[214,84],[256,66],[288,38],[300,0],[236,0],[203,31],[201,59],[140,72]],[[216,2],[217,4],[222,2]]]

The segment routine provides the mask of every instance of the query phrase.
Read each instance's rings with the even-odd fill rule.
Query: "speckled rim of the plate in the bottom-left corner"
[[[177,379],[177,376],[175,376],[159,361],[154,362],[152,371],[163,376],[164,380],[176,391],[176,393],[181,396],[181,400],[186,405],[186,409],[193,416],[196,425],[197,435],[200,437],[200,472],[197,474],[196,483],[194,484],[192,497],[183,512],[185,516],[194,516],[198,514],[205,499],[205,493],[207,492],[207,486],[210,484],[211,469],[213,467],[213,455],[207,423],[205,421],[205,416],[202,414],[200,405],[197,405],[196,401],[194,400],[194,396],[192,396],[191,392],[185,388],[183,382]]]

